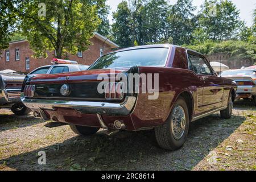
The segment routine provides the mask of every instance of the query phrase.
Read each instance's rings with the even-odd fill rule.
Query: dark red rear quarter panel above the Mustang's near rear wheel
[[[192,71],[179,68],[139,67],[139,73],[159,74],[159,97],[157,100],[148,100],[151,94],[140,92],[137,105],[131,115],[136,129],[162,125],[183,92],[191,95],[195,101],[194,107],[197,107],[197,88],[200,88],[202,83]]]

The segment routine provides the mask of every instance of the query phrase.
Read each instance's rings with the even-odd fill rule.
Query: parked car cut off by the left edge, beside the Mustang
[[[23,105],[20,100],[24,75],[16,73],[0,72],[0,109],[11,109],[16,115],[26,115],[30,109]]]

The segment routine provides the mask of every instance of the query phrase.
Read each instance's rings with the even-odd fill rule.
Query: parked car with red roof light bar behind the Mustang
[[[65,72],[77,72],[85,71],[89,68],[88,65],[78,64],[76,61],[53,59],[52,65],[36,68],[34,71],[28,73],[28,75],[43,75],[43,74],[57,74]]]

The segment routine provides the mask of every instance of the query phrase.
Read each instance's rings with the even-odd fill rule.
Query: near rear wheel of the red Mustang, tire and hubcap
[[[184,145],[188,130],[188,106],[185,100],[180,97],[164,125],[155,128],[156,141],[160,147],[166,150],[177,150]]]

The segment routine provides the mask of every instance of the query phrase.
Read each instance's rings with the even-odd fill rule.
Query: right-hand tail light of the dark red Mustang
[[[122,100],[123,98],[123,83],[112,82],[105,86],[105,98],[107,100]]]

